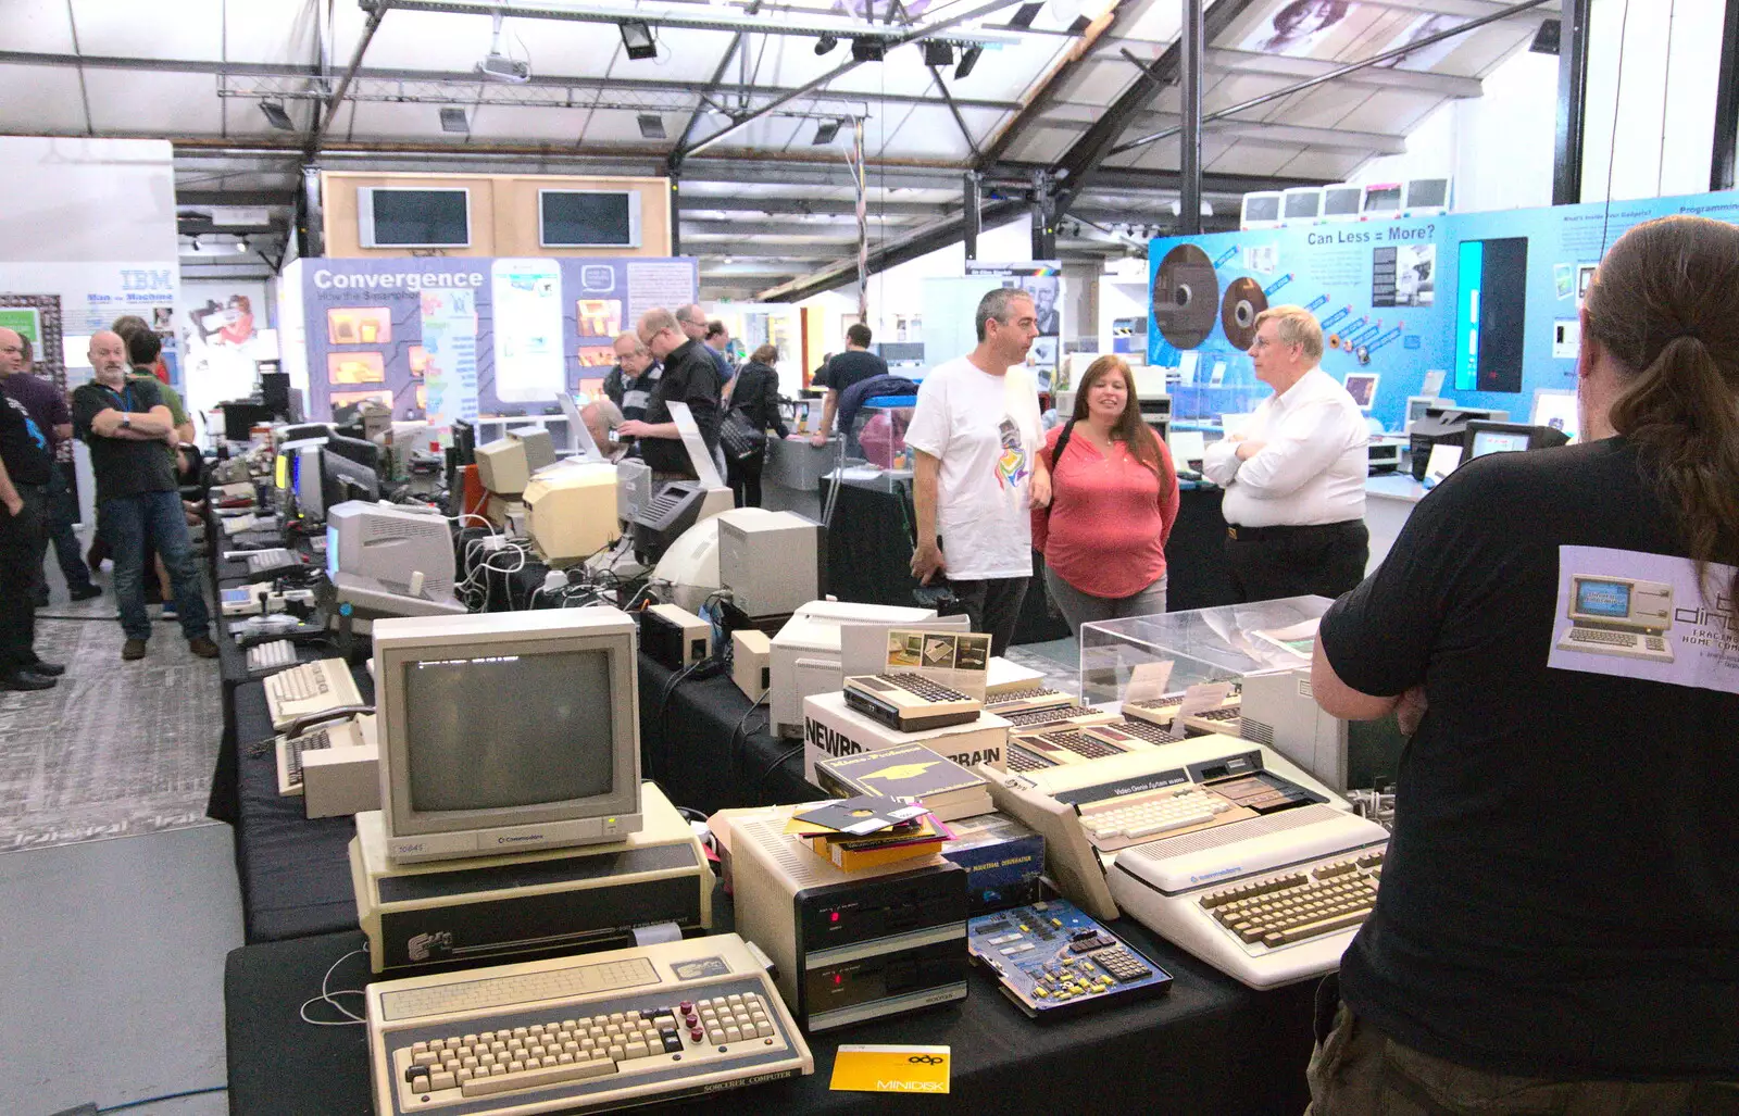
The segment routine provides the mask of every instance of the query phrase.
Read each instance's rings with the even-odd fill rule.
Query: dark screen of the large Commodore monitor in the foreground
[[[410,808],[496,810],[607,794],[609,652],[409,662]]]

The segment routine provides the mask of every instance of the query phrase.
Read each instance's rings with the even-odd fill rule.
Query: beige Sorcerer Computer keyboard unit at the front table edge
[[[734,933],[370,984],[376,1111],[584,1113],[814,1071]]]

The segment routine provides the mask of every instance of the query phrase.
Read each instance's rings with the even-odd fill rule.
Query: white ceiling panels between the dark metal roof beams
[[[864,12],[875,23],[866,23]],[[1125,50],[1153,63],[1177,37],[1177,0],[1085,0],[1089,19],[1115,16],[1108,33],[1069,33],[1066,0],[1045,3],[1029,28],[1009,21],[1019,3],[948,28],[939,38],[981,42],[983,56],[969,76],[953,66],[932,71],[916,45],[901,45],[880,63],[863,63],[805,89],[776,111],[732,127],[727,113],[767,108],[774,97],[817,82],[850,63],[849,42],[817,54],[812,35],[743,35],[734,50],[732,30],[661,24],[661,19],[751,19],[762,26],[836,26],[901,30],[899,16],[922,30],[984,7],[986,0],[908,0],[887,23],[889,0],[612,0],[610,10],[633,10],[654,26],[657,57],[626,56],[614,23],[513,14],[532,7],[506,2],[501,52],[522,59],[534,75],[527,85],[485,83],[471,75],[490,49],[492,26],[483,0],[473,12],[388,10],[362,52],[362,71],[348,89],[323,136],[323,165],[365,165],[386,160],[384,146],[403,148],[393,169],[562,169],[596,165],[659,174],[690,125],[689,141],[730,129],[718,143],[687,160],[683,176],[685,250],[732,250],[732,259],[807,247],[810,256],[850,242],[849,214],[803,217],[753,210],[758,200],[849,203],[852,191],[845,155],[852,129],[831,144],[816,146],[821,118],[863,116],[870,163],[875,236],[897,236],[958,209],[953,186],[969,169],[1024,174],[1026,165],[1061,160],[1139,78]],[[1209,19],[1221,3],[1210,0]],[[450,7],[466,7],[457,0]],[[537,9],[590,9],[583,0],[541,0]],[[755,7],[753,14],[746,9]],[[1224,33],[1210,42],[1203,106],[1214,113],[1280,90],[1336,63],[1389,49],[1438,17],[1426,30],[1452,26],[1506,7],[1497,0],[1325,0],[1306,5],[1329,16],[1315,35],[1276,37],[1276,17],[1299,5],[1285,0],[1243,3]],[[1376,155],[1402,149],[1403,137],[1445,99],[1476,96],[1478,80],[1504,57],[1525,49],[1546,5],[1471,31],[1398,68],[1367,70],[1209,122],[1203,172],[1209,176],[1339,181]],[[1224,9],[1229,10],[1229,9]],[[1337,17],[1336,17],[1337,16]],[[0,134],[165,136],[177,143],[183,193],[210,207],[226,198],[273,203],[273,221],[285,224],[299,183],[301,148],[311,137],[316,99],[327,97],[350,70],[365,35],[369,12],[358,0],[5,0],[5,42],[0,43]],[[730,61],[725,63],[727,56]],[[1076,56],[1085,56],[1075,63]],[[388,73],[390,71],[390,73]],[[1056,80],[1052,75],[1061,73]],[[715,82],[716,76],[716,82]],[[955,99],[951,106],[943,90]],[[282,103],[297,130],[273,129],[259,101]],[[402,101],[398,97],[403,97]],[[1023,111],[1035,99],[1040,108]],[[470,132],[440,129],[440,108],[464,110]],[[642,136],[636,116],[661,116],[664,139]],[[696,115],[697,113],[697,115]],[[1177,123],[1177,89],[1151,97],[1120,139]],[[1000,160],[983,153],[1014,129]],[[1144,188],[1144,172],[1176,170],[1177,141],[1162,139],[1103,163],[1136,174],[1083,195],[1075,209],[1101,217],[1127,210],[1132,221],[1162,221],[1174,198]],[[1224,183],[1226,179],[1217,179]],[[1115,203],[1111,189],[1122,191]],[[1224,191],[1226,188],[1221,186]],[[270,193],[273,196],[263,196]],[[720,209],[701,210],[703,198]],[[836,205],[835,209],[838,209]],[[788,210],[790,207],[786,207]],[[896,212],[897,210],[897,212]],[[732,236],[729,223],[746,229]],[[694,224],[690,235],[690,223]],[[777,228],[779,231],[770,231]],[[830,247],[831,245],[831,247]],[[819,249],[819,252],[817,252]],[[1099,250],[1104,250],[1101,245]],[[1115,249],[1111,249],[1115,250]],[[790,264],[791,275],[807,268]],[[746,294],[762,278],[720,282],[715,294]]]

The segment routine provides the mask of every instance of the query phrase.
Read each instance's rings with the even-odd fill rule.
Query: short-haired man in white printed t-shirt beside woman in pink
[[[977,348],[930,369],[906,428],[918,515],[911,574],[923,584],[944,574],[972,631],[989,633],[1000,655],[1033,575],[1029,513],[1050,502],[1038,391],[1023,365],[1038,311],[1031,294],[998,287],[979,301],[976,323]]]

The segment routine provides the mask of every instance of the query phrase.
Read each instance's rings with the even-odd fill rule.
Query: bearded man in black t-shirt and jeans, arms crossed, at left
[[[188,650],[216,659],[210,614],[188,541],[188,520],[176,488],[176,466],[163,445],[176,443],[176,422],[151,379],[127,379],[127,342],[101,330],[90,337],[96,379],[73,391],[73,429],[90,447],[97,482],[97,521],[115,556],[115,600],[127,636],[122,659],[144,659],[151,617],[144,612],[144,544],[155,542],[174,586],[176,612]]]

